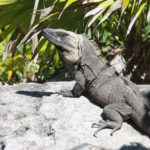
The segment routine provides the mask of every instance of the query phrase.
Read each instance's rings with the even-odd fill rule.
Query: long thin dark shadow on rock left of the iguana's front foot
[[[40,92],[40,91],[17,91],[17,94],[32,96],[32,97],[43,97],[57,94],[57,92]]]

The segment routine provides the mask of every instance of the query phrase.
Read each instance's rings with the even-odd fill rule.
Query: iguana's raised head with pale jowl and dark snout
[[[79,38],[78,35],[63,29],[44,29],[43,34],[48,41],[56,46],[62,59],[68,64],[78,62]]]

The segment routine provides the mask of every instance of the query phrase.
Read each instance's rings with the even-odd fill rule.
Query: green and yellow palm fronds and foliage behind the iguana
[[[86,33],[99,50],[119,47],[136,83],[150,83],[149,0],[0,0],[0,80],[44,81],[63,67],[43,28]]]

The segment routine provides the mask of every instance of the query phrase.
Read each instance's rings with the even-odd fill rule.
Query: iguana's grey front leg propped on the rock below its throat
[[[59,94],[65,97],[79,97],[85,89],[85,78],[82,72],[77,71],[75,74],[75,85],[71,91],[60,91]]]

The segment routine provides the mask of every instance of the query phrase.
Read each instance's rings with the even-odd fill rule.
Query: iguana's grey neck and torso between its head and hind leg
[[[101,57],[97,56],[95,46],[86,37],[82,36],[82,54],[79,70],[86,79],[86,89],[97,102],[105,106],[109,103],[124,101],[124,96],[129,93],[137,96],[143,103],[143,97],[136,85],[127,78],[118,74]],[[80,38],[81,38],[80,37]]]

